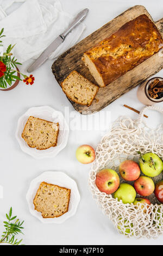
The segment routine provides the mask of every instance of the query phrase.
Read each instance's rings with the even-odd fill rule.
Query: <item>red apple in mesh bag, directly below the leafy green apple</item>
[[[147,176],[140,176],[134,182],[135,190],[138,194],[143,197],[150,196],[154,192],[154,182],[151,178]]]

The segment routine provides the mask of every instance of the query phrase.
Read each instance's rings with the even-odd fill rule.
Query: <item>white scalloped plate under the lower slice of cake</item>
[[[61,187],[66,187],[71,190],[70,194],[70,203],[68,207],[68,211],[66,214],[61,215],[58,218],[43,218],[41,215],[41,212],[38,212],[34,209],[33,199],[35,197],[35,194],[37,192],[37,189],[40,186],[41,182],[47,182],[49,184],[58,185]],[[29,190],[26,195],[27,203],[29,206],[30,213],[38,218],[42,223],[57,223],[60,224],[64,221],[66,221],[68,218],[73,216],[78,208],[78,204],[80,202],[80,194],[78,191],[78,187],[76,182],[71,179],[69,176],[67,176],[65,173],[62,172],[45,172],[41,175],[37,176],[34,180],[30,182]]]

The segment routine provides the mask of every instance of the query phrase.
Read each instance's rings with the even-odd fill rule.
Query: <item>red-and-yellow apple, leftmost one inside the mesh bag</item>
[[[112,194],[120,186],[120,178],[115,170],[103,169],[96,174],[95,183],[101,192]]]

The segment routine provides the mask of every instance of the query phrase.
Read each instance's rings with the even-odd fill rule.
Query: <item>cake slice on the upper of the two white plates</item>
[[[30,148],[43,150],[57,146],[58,133],[59,123],[30,116],[24,126],[22,138]]]

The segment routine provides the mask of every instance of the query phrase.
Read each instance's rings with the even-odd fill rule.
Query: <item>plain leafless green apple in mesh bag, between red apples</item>
[[[114,198],[118,201],[122,200],[123,204],[131,204],[136,197],[136,191],[133,186],[127,183],[122,183],[118,190],[114,193]]]

